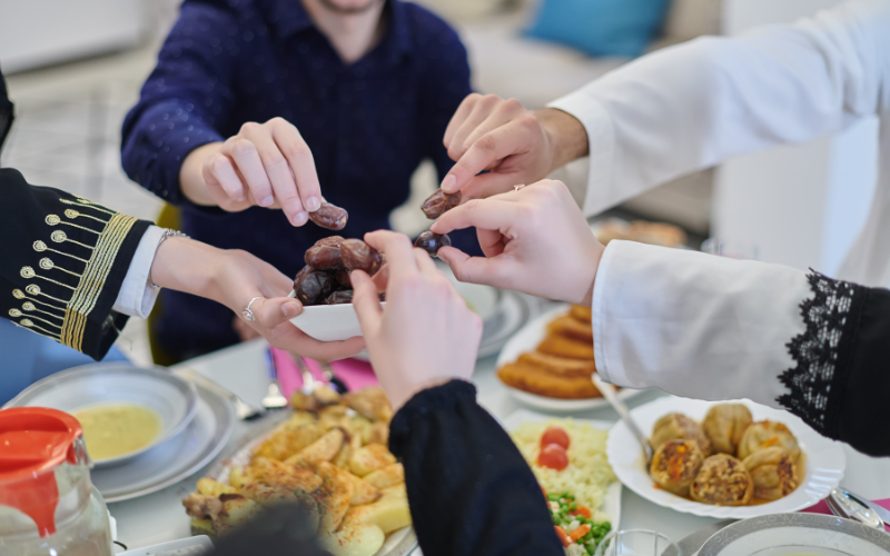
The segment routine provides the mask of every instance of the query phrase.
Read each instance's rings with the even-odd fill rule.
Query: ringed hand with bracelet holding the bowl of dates
[[[319,341],[294,326],[290,319],[303,312],[303,305],[287,297],[294,281],[246,251],[222,250],[191,239],[171,237],[155,255],[151,281],[225,305],[243,326],[279,349],[332,361],[352,357],[365,348],[362,337]],[[250,305],[254,320],[249,320],[243,311],[255,297],[259,299]]]

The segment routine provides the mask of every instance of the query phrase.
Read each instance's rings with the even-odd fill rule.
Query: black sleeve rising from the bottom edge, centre
[[[424,556],[563,556],[532,469],[462,380],[414,396],[393,419]]]

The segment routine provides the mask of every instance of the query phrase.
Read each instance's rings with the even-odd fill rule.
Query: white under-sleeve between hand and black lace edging
[[[617,386],[782,407],[812,296],[793,268],[611,241],[593,289],[596,369]]]

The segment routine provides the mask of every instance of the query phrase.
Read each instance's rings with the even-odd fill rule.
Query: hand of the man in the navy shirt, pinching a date
[[[313,153],[283,118],[247,122],[225,142],[198,147],[182,162],[179,180],[198,205],[230,212],[255,205],[280,208],[294,226],[322,206]]]

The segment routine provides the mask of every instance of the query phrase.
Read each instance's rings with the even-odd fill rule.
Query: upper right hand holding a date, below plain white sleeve
[[[442,189],[479,199],[543,179],[586,155],[587,133],[561,110],[528,111],[516,99],[473,93],[452,117],[444,143],[457,163]],[[490,171],[477,176],[483,170]]]

